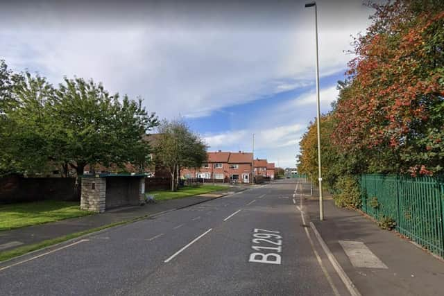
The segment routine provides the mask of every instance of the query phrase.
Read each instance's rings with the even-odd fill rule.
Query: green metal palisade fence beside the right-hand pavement
[[[400,234],[444,257],[442,177],[361,175],[360,185],[364,212],[393,218]]]

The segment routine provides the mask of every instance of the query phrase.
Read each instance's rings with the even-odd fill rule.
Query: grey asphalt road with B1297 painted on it
[[[295,187],[255,187],[10,261],[0,294],[334,295]]]

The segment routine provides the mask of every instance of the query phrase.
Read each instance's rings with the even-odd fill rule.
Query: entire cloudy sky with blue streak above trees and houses
[[[367,1],[365,1],[367,2]],[[373,10],[319,0],[321,112]],[[0,59],[53,85],[64,76],[141,96],[182,118],[210,151],[252,150],[293,167],[316,117],[314,8],[305,1],[10,1],[0,3]]]

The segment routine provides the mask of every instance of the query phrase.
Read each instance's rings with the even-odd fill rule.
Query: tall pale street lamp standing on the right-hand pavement
[[[319,181],[319,219],[324,220],[324,207],[322,198],[322,174],[321,174],[321,107],[319,102],[319,54],[318,54],[318,6],[316,2],[305,4],[305,8],[314,6],[314,26],[316,29],[316,130],[318,132],[318,181]]]

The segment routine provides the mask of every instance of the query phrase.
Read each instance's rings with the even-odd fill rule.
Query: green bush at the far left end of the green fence
[[[334,204],[338,207],[358,209],[361,207],[361,191],[355,177],[339,177],[336,182],[338,193],[334,195]]]

